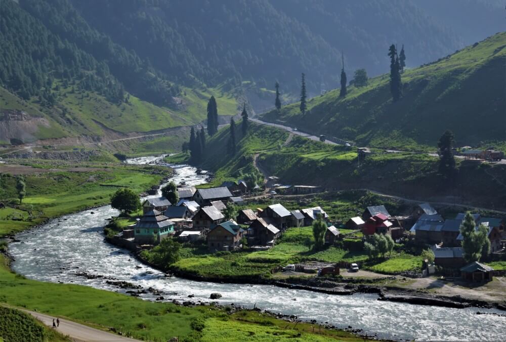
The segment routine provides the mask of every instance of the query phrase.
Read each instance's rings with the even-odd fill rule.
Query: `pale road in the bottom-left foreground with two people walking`
[[[24,312],[37,318],[49,327],[53,326],[53,316],[48,316],[38,312],[23,310]],[[91,328],[86,325],[67,321],[60,318],[60,326],[56,330],[64,335],[69,335],[75,342],[135,342],[138,339],[127,338],[110,332]]]

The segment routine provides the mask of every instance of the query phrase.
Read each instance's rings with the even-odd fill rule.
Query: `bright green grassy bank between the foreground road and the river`
[[[195,339],[190,336],[195,336],[196,331],[192,328],[192,322],[202,320],[205,325],[203,338],[214,336],[223,341],[241,339],[244,332],[248,331],[264,337],[300,333],[309,340],[360,340],[347,332],[326,329],[316,335],[310,333],[308,324],[293,328],[285,321],[257,312],[228,315],[226,310],[214,307],[186,308],[172,303],[143,301],[88,286],[29,280],[10,272],[2,254],[0,303],[65,317],[102,330],[114,327],[117,331],[143,339],[168,340],[179,336],[182,338],[180,340],[193,341]],[[218,322],[222,325],[218,325]]]

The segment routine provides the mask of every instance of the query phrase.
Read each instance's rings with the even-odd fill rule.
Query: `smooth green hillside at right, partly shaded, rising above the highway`
[[[304,116],[295,103],[263,117],[375,147],[435,146],[447,129],[454,132],[457,146],[504,141],[505,47],[506,33],[498,33],[435,63],[406,70],[403,98],[397,103],[392,102],[389,76],[381,75],[369,79],[366,87],[349,87],[344,99],[339,90],[311,99]]]

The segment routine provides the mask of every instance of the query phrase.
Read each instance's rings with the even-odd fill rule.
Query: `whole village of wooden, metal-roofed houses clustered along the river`
[[[285,196],[311,196],[320,193],[316,186],[284,186],[277,177],[266,179],[264,187],[248,188],[245,181],[227,181],[220,187],[197,189],[177,187],[177,203],[165,197],[151,197],[142,202],[142,216],[135,224],[126,226],[111,241],[137,253],[149,250],[166,238],[183,245],[205,246],[207,253],[268,251],[278,244],[283,234],[297,234],[322,223],[321,246],[334,247],[358,255],[356,260],[318,260],[278,265],[272,272],[287,276],[308,273],[317,276],[361,277],[362,268],[386,275],[407,277],[438,276],[442,279],[469,283],[486,283],[504,271],[487,265],[501,262],[505,257],[506,220],[485,217],[479,213],[459,212],[444,217],[429,203],[412,204],[409,211],[390,213],[385,205],[363,207],[361,215],[347,220],[332,220],[322,206],[287,209]],[[267,205],[257,200],[268,199]],[[280,200],[276,201],[276,200]],[[461,226],[472,218],[473,227],[487,230],[490,248],[484,248],[475,260],[469,260],[462,246]],[[316,236],[315,236],[316,238]],[[389,242],[390,241],[390,242]],[[392,251],[421,251],[419,265],[412,269],[392,271],[379,267],[388,262]],[[480,248],[481,252],[481,248]],[[375,265],[378,264],[378,265]]]

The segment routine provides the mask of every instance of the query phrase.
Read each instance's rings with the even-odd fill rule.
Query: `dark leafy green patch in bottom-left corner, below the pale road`
[[[48,328],[22,311],[0,306],[0,340],[9,342],[69,341],[57,331]]]

